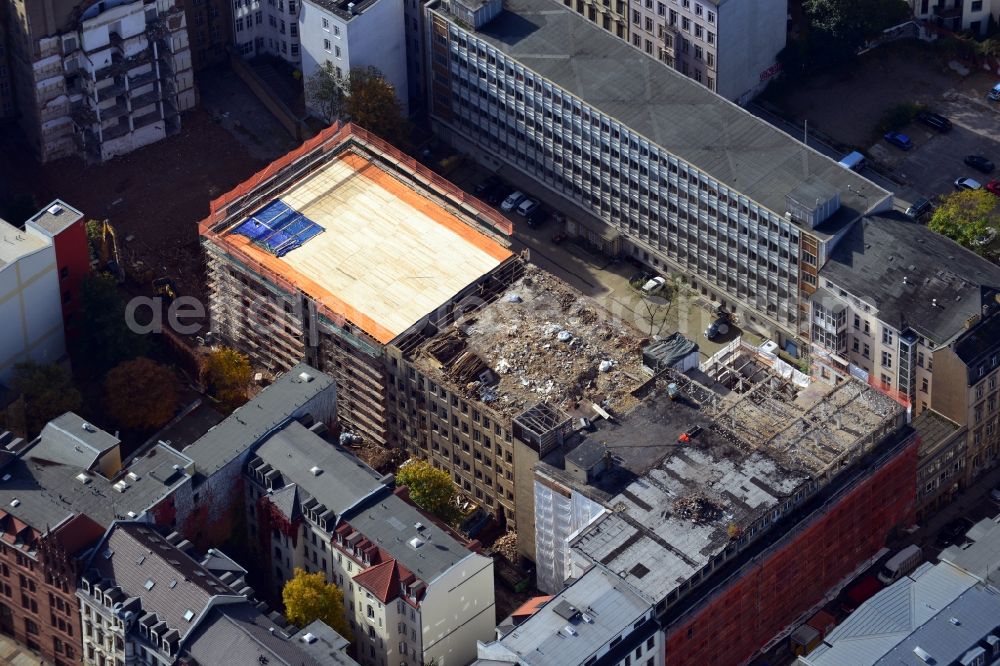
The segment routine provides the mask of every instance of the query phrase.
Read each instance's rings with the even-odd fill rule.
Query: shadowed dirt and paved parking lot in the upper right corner
[[[966,167],[962,159],[980,154],[1000,163],[1000,102],[986,99],[997,81],[1000,77],[988,72],[969,71],[942,59],[930,44],[897,42],[865,54],[844,69],[817,75],[787,91],[765,94],[762,102],[794,126],[808,121],[811,132],[822,134],[845,152],[865,153],[898,181],[891,187],[897,198],[912,203],[954,191],[952,183],[960,176],[983,184],[989,179]],[[912,122],[900,130],[913,140],[913,149],[904,152],[890,146],[881,138],[879,122],[893,107],[910,103],[946,116],[953,129],[942,134]]]

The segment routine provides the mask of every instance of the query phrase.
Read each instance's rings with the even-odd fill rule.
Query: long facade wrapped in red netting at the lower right
[[[915,519],[918,438],[907,431],[701,601],[668,610],[669,666],[741,664]]]

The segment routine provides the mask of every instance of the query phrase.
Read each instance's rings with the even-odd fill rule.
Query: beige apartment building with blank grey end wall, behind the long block
[[[787,0],[563,0],[646,55],[741,106],[767,87],[785,48]]]

